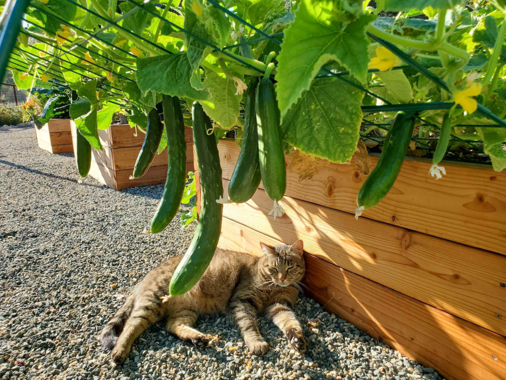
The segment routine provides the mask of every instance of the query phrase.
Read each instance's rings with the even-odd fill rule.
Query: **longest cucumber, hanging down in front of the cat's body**
[[[221,232],[223,205],[216,200],[223,196],[222,171],[215,136],[207,134],[213,126],[197,102],[193,103],[192,117],[193,145],[200,173],[201,210],[190,247],[172,276],[169,285],[172,296],[186,293],[202,277],[215,254]]]

